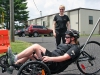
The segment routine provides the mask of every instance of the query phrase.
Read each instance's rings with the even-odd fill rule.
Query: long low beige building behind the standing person
[[[53,18],[55,14],[28,20],[28,25],[44,25],[52,29]],[[100,17],[100,10],[77,8],[65,11],[65,14],[70,18],[71,29],[78,30],[80,34],[90,34],[94,25]],[[100,34],[100,24],[97,26],[95,34]]]

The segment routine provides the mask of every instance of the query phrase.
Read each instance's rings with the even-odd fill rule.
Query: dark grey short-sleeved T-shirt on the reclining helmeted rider
[[[79,53],[79,45],[76,44],[60,44],[58,45],[57,49],[54,50],[52,53],[61,56],[65,53],[69,54],[72,59],[74,59]]]

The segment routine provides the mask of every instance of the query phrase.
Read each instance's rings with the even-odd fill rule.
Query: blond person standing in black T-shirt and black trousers
[[[70,29],[69,17],[64,14],[65,6],[59,7],[59,14],[56,14],[53,19],[53,35],[56,38],[56,45],[61,42],[65,43],[65,32]]]

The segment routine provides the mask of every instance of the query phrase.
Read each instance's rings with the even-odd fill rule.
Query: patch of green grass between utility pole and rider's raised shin
[[[19,53],[31,45],[32,43],[27,43],[24,41],[15,41],[15,42],[11,42],[11,49],[14,53]]]

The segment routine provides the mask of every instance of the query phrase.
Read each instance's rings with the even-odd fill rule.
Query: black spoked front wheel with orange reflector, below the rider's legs
[[[39,72],[42,72],[42,70],[44,70],[45,74],[40,74],[39,72],[37,72],[38,69],[41,70]],[[34,73],[33,73],[33,70],[34,70]],[[20,67],[17,75],[51,75],[51,72],[49,68],[47,67],[47,65],[44,64],[43,62],[29,61]]]

